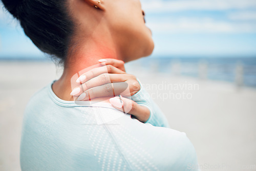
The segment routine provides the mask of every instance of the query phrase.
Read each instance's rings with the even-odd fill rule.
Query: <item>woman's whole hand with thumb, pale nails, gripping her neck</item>
[[[136,94],[140,84],[136,77],[125,73],[124,62],[117,59],[100,59],[102,67],[94,68],[82,74],[77,82],[80,86],[73,89],[72,96],[77,100],[90,100],[97,97],[116,96],[110,98],[114,108],[131,114],[141,122],[146,122],[150,117],[150,110],[133,100],[124,98]]]

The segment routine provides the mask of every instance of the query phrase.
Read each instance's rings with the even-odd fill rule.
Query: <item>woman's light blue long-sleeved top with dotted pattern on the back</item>
[[[194,146],[185,133],[167,128],[143,88],[132,99],[150,107],[146,123],[109,103],[61,100],[51,86],[37,92],[25,111],[23,171],[196,170]]]

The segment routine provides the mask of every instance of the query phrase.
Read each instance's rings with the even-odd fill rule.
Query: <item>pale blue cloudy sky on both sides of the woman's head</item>
[[[2,5],[1,5],[2,7]],[[255,0],[142,0],[153,56],[255,56]],[[44,56],[0,9],[0,58]]]

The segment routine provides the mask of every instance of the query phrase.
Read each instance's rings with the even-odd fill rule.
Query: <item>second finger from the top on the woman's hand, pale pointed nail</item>
[[[84,82],[86,82],[100,74],[103,74],[103,73],[124,74],[125,72],[123,72],[122,70],[120,70],[114,66],[106,65],[106,66],[94,68],[94,69],[82,74],[81,76],[79,76],[79,78],[76,80],[76,82],[84,83]]]

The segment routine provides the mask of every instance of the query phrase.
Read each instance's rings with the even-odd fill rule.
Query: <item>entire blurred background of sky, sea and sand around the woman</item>
[[[0,170],[20,170],[29,98],[61,74],[0,3]],[[256,1],[143,0],[150,57],[126,64],[201,170],[256,170]]]

